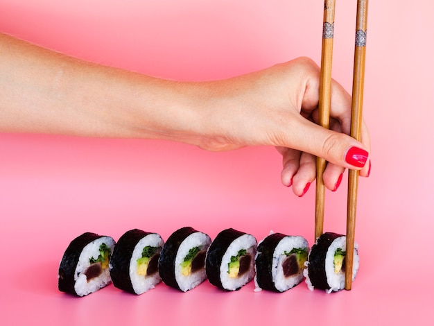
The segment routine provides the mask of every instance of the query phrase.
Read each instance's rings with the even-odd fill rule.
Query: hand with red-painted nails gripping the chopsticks
[[[323,180],[331,191],[338,188],[345,168],[359,169],[361,176],[368,176],[370,135],[365,122],[362,142],[348,136],[351,96],[333,80],[330,130],[318,126],[319,84],[320,69],[308,58],[211,82],[207,114],[214,137],[202,147],[221,151],[276,146],[283,156],[281,181],[292,185],[297,196],[303,196],[315,180],[315,156],[329,162]]]

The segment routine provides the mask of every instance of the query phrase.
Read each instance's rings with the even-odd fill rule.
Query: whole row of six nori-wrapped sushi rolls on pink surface
[[[257,242],[252,234],[226,229],[214,241],[191,227],[163,241],[153,232],[134,229],[119,241],[91,232],[73,239],[60,261],[58,288],[78,297],[112,283],[141,295],[159,282],[182,292],[208,280],[235,291],[254,280],[254,291],[284,292],[305,280],[327,293],[345,286],[345,236],[327,232],[312,248],[301,236],[271,232]],[[352,279],[358,271],[354,244]]]

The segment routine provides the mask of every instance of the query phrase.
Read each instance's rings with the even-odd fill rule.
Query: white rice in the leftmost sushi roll
[[[89,282],[85,275],[85,271],[87,271],[87,268],[91,265],[89,259],[98,259],[98,256],[100,255],[99,248],[103,243],[105,243],[105,245],[110,248],[111,252],[113,252],[115,243],[114,239],[112,239],[112,237],[101,237],[85,246],[80,253],[76,271],[74,273],[74,290],[79,296],[94,293],[112,281],[108,267],[103,268],[101,275],[93,277]]]

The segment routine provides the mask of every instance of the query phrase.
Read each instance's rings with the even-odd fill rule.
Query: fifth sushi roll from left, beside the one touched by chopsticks
[[[300,284],[308,252],[304,237],[273,233],[263,239],[255,258],[255,291],[284,292]]]

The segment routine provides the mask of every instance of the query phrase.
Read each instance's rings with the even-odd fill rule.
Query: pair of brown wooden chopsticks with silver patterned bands
[[[357,1],[356,13],[356,47],[354,51],[354,72],[351,103],[351,137],[361,141],[363,83],[365,79],[365,53],[367,31],[367,2]],[[331,60],[333,54],[333,29],[335,15],[335,0],[324,1],[324,25],[322,33],[322,53],[320,71],[320,103],[319,124],[329,128],[331,103]],[[317,157],[316,161],[316,198],[315,198],[315,239],[322,234],[324,224],[324,198],[325,186],[322,174],[327,162]],[[353,259],[354,259],[354,233],[356,228],[358,171],[349,170],[348,198],[347,198],[347,249],[345,255],[345,289],[351,290]]]

